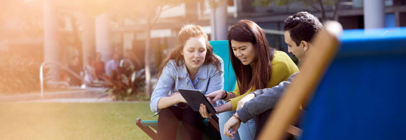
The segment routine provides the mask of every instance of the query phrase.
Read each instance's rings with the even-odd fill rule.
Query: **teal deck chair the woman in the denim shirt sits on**
[[[213,46],[213,51],[219,55],[224,61],[224,90],[227,92],[234,91],[236,78],[231,62],[228,57],[228,41],[210,41]],[[213,117],[203,120],[203,140],[220,140],[220,130],[218,120]],[[157,140],[157,135],[154,130],[157,130],[157,120],[141,120],[137,118],[137,126],[144,131],[151,139]],[[179,121],[177,139],[182,140],[182,121]],[[154,129],[154,130],[153,130]],[[158,132],[159,133],[159,132]]]

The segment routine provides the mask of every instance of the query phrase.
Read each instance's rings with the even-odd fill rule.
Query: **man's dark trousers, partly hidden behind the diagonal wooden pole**
[[[273,111],[273,109],[270,109],[255,118],[256,131],[255,131],[254,140],[258,139],[259,134],[261,133],[263,127],[266,124],[266,121],[268,121],[268,119],[271,117],[272,111]],[[305,111],[300,110],[299,117],[295,120],[295,124],[293,126],[300,128],[300,125],[303,122],[304,115],[305,115]],[[289,137],[288,137],[285,140],[291,140],[291,139],[289,139]]]

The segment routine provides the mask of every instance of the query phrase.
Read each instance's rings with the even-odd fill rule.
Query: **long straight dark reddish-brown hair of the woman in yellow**
[[[253,69],[250,65],[243,65],[234,55],[231,40],[252,43],[257,54],[253,62]],[[228,32],[228,50],[240,95],[246,93],[251,87],[255,89],[265,89],[268,87],[272,74],[271,61],[274,57],[275,49],[269,46],[261,27],[249,20],[240,20],[238,23],[235,23]]]

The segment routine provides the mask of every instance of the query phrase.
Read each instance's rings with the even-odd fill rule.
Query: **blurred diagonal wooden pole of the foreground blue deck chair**
[[[305,58],[301,73],[281,97],[258,140],[281,140],[286,131],[301,135],[301,131],[289,124],[292,124],[299,113],[297,107],[301,104],[306,106],[336,56],[338,36],[342,31],[343,27],[338,22],[324,24],[324,30],[314,39],[313,47]]]

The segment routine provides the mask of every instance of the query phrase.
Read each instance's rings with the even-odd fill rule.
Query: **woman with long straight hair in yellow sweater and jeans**
[[[238,102],[255,90],[272,88],[282,81],[286,81],[290,75],[299,69],[282,51],[270,47],[261,27],[249,20],[241,20],[231,26],[228,32],[228,47],[231,64],[235,72],[237,83],[234,92],[219,90],[206,97],[212,99],[212,103],[219,99],[228,101],[226,104],[215,107],[219,117],[220,132],[223,133],[224,124],[234,115],[238,108]],[[203,117],[210,117],[206,107],[201,106],[200,113]],[[255,134],[255,121],[241,123],[237,131],[232,131],[230,138],[241,140],[253,140]],[[221,134],[222,140],[229,140]]]

